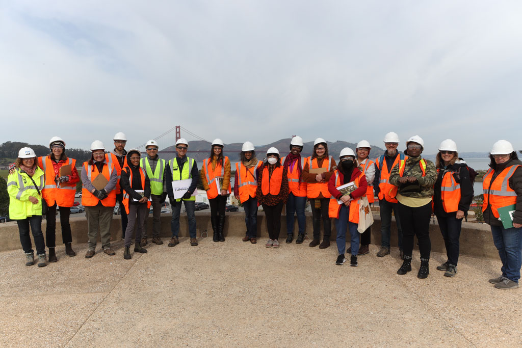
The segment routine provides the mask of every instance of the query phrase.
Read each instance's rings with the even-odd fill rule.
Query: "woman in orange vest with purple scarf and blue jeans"
[[[306,217],[304,215],[304,210],[306,209],[306,182],[302,177],[306,158],[301,157],[303,146],[303,139],[300,136],[293,137],[290,140],[290,153],[281,159],[288,173],[287,244],[292,243],[293,239],[294,214],[297,215],[297,223],[299,225],[299,233],[295,244],[302,244],[306,233]]]

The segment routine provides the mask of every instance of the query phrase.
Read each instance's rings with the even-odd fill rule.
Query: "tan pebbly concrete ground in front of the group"
[[[188,238],[123,259],[85,259],[57,248],[58,262],[24,266],[0,253],[0,346],[522,346],[522,289],[496,290],[500,261],[461,257],[455,278],[397,275],[398,250],[377,247],[336,266],[336,247],[279,249],[240,237]]]

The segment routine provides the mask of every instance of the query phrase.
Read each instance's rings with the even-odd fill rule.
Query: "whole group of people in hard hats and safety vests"
[[[160,234],[160,212],[167,197],[172,206],[169,246],[179,244],[180,212],[182,204],[188,218],[191,246],[197,246],[195,191],[199,180],[210,204],[214,242],[224,242],[226,222],[225,206],[232,194],[230,159],[223,155],[224,143],[215,139],[210,154],[199,171],[196,161],[187,157],[188,141],[176,141],[176,157],[170,161],[160,159],[158,144],[149,140],[147,156],[141,158],[137,149],[125,150],[126,136],[114,136],[114,149],[105,153],[99,140],[93,141],[92,157],[81,171],[82,197],[88,225],[88,251],[86,258],[95,254],[96,238],[100,229],[105,254],[115,255],[110,244],[112,211],[116,202],[122,214],[122,238],[125,239],[124,258],[131,259],[130,247],[135,253],[146,253],[148,243],[147,220],[152,206],[152,243],[163,244]],[[296,244],[305,239],[305,209],[310,203],[313,216],[313,238],[310,247],[320,249],[330,245],[331,219],[337,230],[337,265],[346,262],[346,234],[350,236],[350,265],[358,266],[358,255],[369,253],[371,228],[360,229],[361,211],[378,197],[381,215],[381,248],[377,257],[390,254],[392,215],[395,215],[399,255],[403,260],[397,274],[411,271],[414,236],[420,250],[418,278],[429,274],[431,242],[429,224],[435,214],[444,243],[447,261],[437,266],[446,277],[457,273],[459,236],[462,218],[469,210],[473,198],[473,186],[469,167],[458,157],[455,141],[441,142],[435,164],[422,158],[424,142],[413,136],[406,141],[406,150],[397,150],[399,137],[390,132],[384,137],[386,151],[375,161],[370,160],[370,143],[361,140],[355,152],[341,150],[338,162],[328,152],[322,138],[314,141],[310,157],[302,157],[303,139],[291,139],[289,153],[281,157],[272,147],[263,161],[256,157],[252,142],[243,143],[240,161],[235,165],[233,195],[245,212],[246,234],[244,242],[257,243],[257,211],[263,207],[269,239],[266,247],[279,247],[282,209],[286,205],[286,243],[293,242],[294,215],[297,217]],[[68,256],[75,256],[69,224],[70,207],[74,203],[76,183],[79,181],[76,161],[67,157],[65,141],[59,137],[50,140],[51,153],[37,158],[30,148],[22,148],[16,161],[16,169],[8,177],[10,196],[9,213],[17,221],[20,241],[26,253],[26,265],[34,264],[34,254],[29,237],[31,230],[37,249],[38,266],[46,265],[45,244],[49,249],[49,261],[57,261],[55,248],[56,209],[60,210],[62,239]],[[502,260],[502,274],[490,279],[498,289],[518,287],[522,265],[522,162],[518,160],[511,143],[499,140],[490,152],[490,169],[483,177],[483,216],[491,225],[493,240]],[[62,167],[70,165],[66,174]],[[63,174],[63,175],[62,175]],[[178,182],[181,189],[174,189]],[[346,190],[345,186],[351,186]],[[42,204],[44,203],[44,204]],[[513,206],[512,226],[500,221],[499,209]],[[45,242],[41,231],[42,214],[46,215]],[[322,223],[321,223],[322,222]],[[321,226],[323,238],[321,241]],[[362,225],[365,226],[365,225]]]

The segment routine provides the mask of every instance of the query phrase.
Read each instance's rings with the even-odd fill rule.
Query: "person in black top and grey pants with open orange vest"
[[[128,216],[127,230],[125,231],[125,251],[123,258],[130,260],[131,244],[136,224],[136,236],[134,244],[134,252],[145,254],[147,250],[141,247],[141,233],[143,233],[143,224],[149,215],[150,208],[150,179],[141,168],[139,161],[141,152],[137,149],[127,151],[127,166],[122,169],[120,177],[120,185],[123,191],[123,206]]]

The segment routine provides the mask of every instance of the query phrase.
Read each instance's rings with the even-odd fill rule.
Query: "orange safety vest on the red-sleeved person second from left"
[[[76,160],[68,158],[67,164],[73,168],[76,166]],[[74,204],[74,194],[76,193],[76,184],[62,183],[57,184],[54,181],[56,174],[54,173],[53,162],[49,156],[39,157],[38,166],[45,173],[45,186],[42,190],[42,196],[48,206],[56,205],[58,207],[70,208]]]

